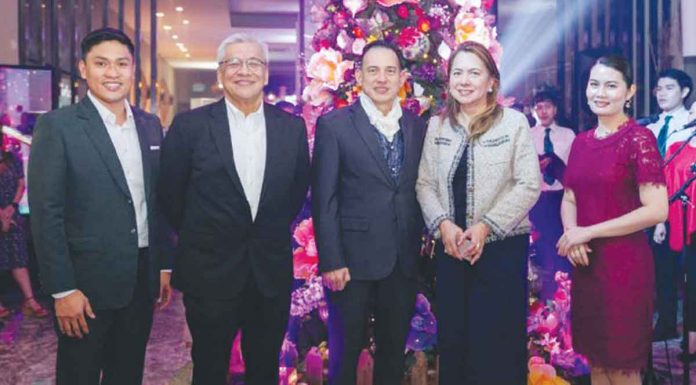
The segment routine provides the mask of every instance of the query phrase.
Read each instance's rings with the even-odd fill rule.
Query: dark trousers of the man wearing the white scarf
[[[355,385],[358,358],[367,346],[367,326],[374,313],[377,345],[374,383],[400,385],[404,350],[416,304],[417,281],[396,266],[384,279],[349,281],[342,291],[328,289],[329,385]]]

